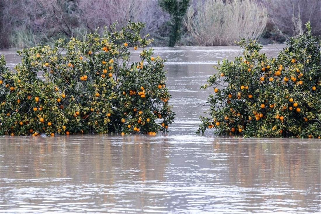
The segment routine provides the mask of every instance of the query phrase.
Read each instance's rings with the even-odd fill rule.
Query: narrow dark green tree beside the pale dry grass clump
[[[182,22],[189,6],[189,0],[159,0],[159,5],[171,16],[169,47],[174,47],[182,34]]]

